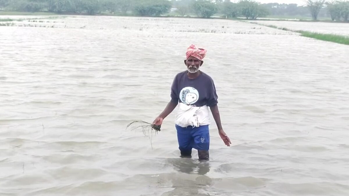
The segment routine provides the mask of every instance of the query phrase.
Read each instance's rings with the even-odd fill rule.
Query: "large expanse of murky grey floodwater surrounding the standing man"
[[[179,158],[176,111],[158,135],[126,130],[164,109],[190,44],[208,51],[202,71],[232,141],[211,117],[207,163]],[[347,196],[348,51],[226,20],[0,27],[0,195]]]

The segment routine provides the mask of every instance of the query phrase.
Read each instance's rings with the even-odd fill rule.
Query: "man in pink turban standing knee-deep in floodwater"
[[[216,122],[218,134],[225,145],[231,144],[221,125],[215,84],[210,76],[199,70],[206,52],[202,48],[196,48],[195,45],[188,47],[186,60],[184,60],[187,70],[178,73],[174,78],[171,86],[171,100],[153,122],[153,125],[161,125],[179,103],[175,127],[181,157],[191,158],[192,148],[194,148],[198,150],[199,160],[209,160],[208,107]]]

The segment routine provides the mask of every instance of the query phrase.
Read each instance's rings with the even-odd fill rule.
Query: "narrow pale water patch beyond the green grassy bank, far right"
[[[259,24],[275,25],[279,28],[291,30],[303,30],[316,33],[328,33],[342,36],[349,36],[349,23],[330,22],[296,22],[296,21],[258,21]]]

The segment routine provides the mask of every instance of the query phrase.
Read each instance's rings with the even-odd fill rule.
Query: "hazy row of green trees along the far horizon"
[[[196,15],[210,18],[244,17],[256,19],[268,15],[331,17],[348,21],[349,1],[306,0],[305,6],[285,3],[264,3],[254,0],[0,0],[0,10],[19,12],[84,13],[89,15],[108,12],[118,15],[159,16],[175,10],[178,15]]]

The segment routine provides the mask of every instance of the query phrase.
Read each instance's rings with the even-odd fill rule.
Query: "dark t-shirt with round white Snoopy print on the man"
[[[182,71],[174,77],[171,86],[171,101],[182,102],[192,106],[214,106],[218,103],[213,79],[201,71],[200,76],[189,79],[187,70]]]

